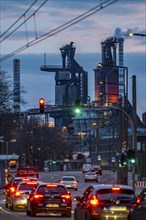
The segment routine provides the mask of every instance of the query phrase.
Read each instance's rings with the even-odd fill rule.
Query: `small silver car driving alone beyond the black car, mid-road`
[[[67,189],[78,190],[78,181],[74,176],[63,176],[60,183],[64,184]]]

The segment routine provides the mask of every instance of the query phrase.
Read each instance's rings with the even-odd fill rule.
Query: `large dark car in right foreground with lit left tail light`
[[[74,220],[127,220],[135,199],[130,186],[90,185],[81,197],[75,197]]]

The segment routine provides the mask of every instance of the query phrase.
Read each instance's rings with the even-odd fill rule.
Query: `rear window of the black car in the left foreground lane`
[[[57,186],[57,187],[40,186],[37,192],[42,194],[53,194],[53,193],[63,194],[63,193],[67,193],[67,190],[63,186]]]

